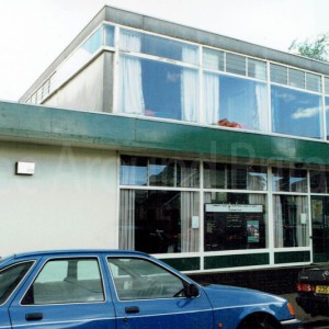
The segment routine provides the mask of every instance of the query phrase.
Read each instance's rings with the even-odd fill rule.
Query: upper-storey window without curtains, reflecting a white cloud
[[[272,64],[271,82],[272,132],[322,138],[321,77]]]

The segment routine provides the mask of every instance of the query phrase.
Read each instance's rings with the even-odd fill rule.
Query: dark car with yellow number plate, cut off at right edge
[[[329,265],[303,269],[297,279],[297,304],[311,316],[329,316]]]

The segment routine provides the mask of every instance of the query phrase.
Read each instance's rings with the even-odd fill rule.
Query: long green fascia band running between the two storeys
[[[329,143],[0,102],[0,138],[116,150],[329,164]]]

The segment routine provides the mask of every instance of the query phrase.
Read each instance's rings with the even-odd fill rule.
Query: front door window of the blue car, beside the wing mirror
[[[183,281],[150,261],[110,258],[107,262],[121,300],[184,296]]]

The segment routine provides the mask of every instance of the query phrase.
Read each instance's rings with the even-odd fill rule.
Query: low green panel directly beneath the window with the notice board
[[[269,253],[212,256],[204,258],[204,269],[228,269],[270,264]]]

